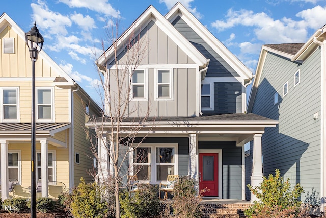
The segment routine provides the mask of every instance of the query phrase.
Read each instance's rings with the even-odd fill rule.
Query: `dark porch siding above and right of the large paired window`
[[[139,143],[143,138],[135,138]],[[188,137],[147,137],[142,143],[178,143],[179,175],[188,175],[189,138]]]

